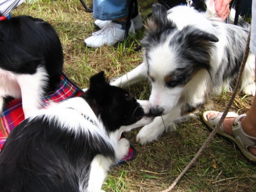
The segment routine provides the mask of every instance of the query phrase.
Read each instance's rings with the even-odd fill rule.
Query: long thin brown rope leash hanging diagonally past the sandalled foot
[[[203,153],[203,150],[206,148],[206,146],[210,143],[210,141],[212,140],[212,138],[214,137],[214,135],[216,134],[216,132],[218,131],[219,127],[221,126],[222,122],[224,121],[224,119],[226,118],[226,115],[228,114],[228,111],[230,109],[230,107],[232,106],[232,103],[234,101],[234,98],[236,97],[236,94],[238,92],[238,88],[240,87],[240,83],[241,83],[241,77],[242,77],[242,73],[244,71],[244,66],[246,64],[246,60],[248,58],[249,55],[249,44],[250,44],[250,34],[251,31],[249,31],[248,34],[248,38],[247,38],[247,42],[246,42],[246,50],[244,53],[244,57],[242,60],[242,64],[240,66],[240,70],[239,70],[239,74],[238,74],[238,80],[236,82],[236,87],[234,88],[234,91],[232,93],[232,96],[230,98],[230,101],[228,102],[228,105],[226,106],[226,109],[224,110],[217,126],[214,128],[214,130],[212,130],[212,132],[210,133],[209,137],[207,138],[207,140],[204,142],[204,144],[202,145],[202,147],[198,150],[198,152],[196,153],[196,156],[189,162],[189,164],[187,164],[187,166],[185,167],[185,169],[179,174],[179,176],[177,176],[177,178],[173,181],[173,183],[171,184],[171,186],[169,186],[166,190],[163,190],[161,192],[169,192],[170,190],[172,190],[175,185],[177,184],[177,182],[180,180],[180,178],[187,172],[187,170],[189,168],[191,168],[191,166],[196,162],[196,160],[199,158],[199,156]]]

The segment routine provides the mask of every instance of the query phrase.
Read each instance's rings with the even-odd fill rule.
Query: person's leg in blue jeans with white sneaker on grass
[[[93,9],[93,17],[98,20],[103,20],[103,22],[105,20],[107,23],[101,30],[85,39],[85,46],[97,48],[123,42],[128,16],[127,0],[94,0]],[[135,35],[132,21],[129,27],[129,34],[132,36]]]

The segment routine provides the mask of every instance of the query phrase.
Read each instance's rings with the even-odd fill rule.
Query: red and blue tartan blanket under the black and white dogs
[[[79,96],[83,93],[77,85],[75,85],[67,76],[62,74],[60,85],[54,91],[50,92],[43,100],[44,106],[47,106],[49,102],[60,102],[67,98],[72,98],[74,96]],[[4,142],[9,136],[12,129],[15,128],[22,120],[24,120],[24,113],[22,110],[22,101],[21,100],[12,100],[10,101],[4,112],[0,114],[0,150],[2,149]],[[131,146],[129,154],[123,160],[119,161],[118,164],[131,160],[135,157],[136,150]]]

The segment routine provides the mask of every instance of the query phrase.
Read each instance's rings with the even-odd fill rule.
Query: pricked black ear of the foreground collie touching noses
[[[109,85],[109,81],[105,78],[104,71],[90,78],[90,89],[94,91],[102,91],[105,89],[106,85]]]

